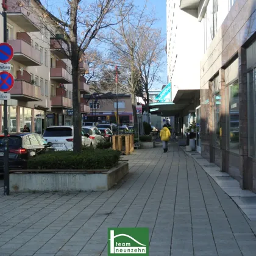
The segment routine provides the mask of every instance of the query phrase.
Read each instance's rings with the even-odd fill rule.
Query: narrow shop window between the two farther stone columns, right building
[[[213,93],[213,123],[215,125],[213,133],[213,146],[221,146],[221,95],[219,94],[219,76],[212,81],[212,93]]]

